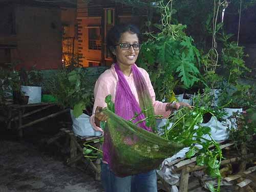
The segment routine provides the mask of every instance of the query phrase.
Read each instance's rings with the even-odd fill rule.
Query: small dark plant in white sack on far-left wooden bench
[[[29,103],[41,102],[41,71],[36,70],[35,66],[30,71],[22,67],[20,69],[20,80],[22,82],[21,90],[29,96]]]

